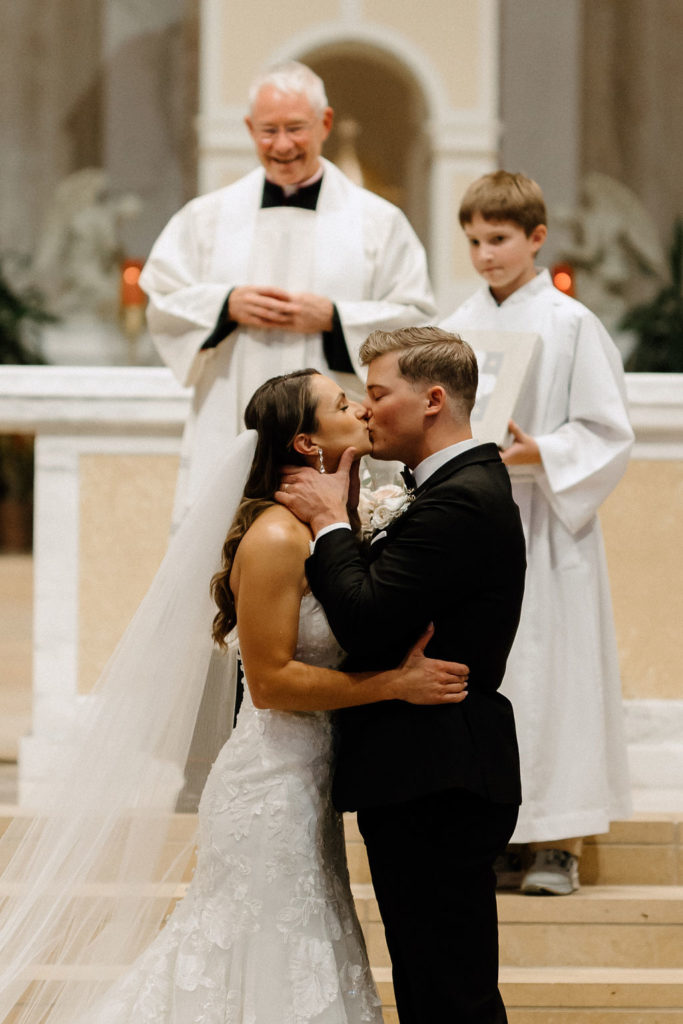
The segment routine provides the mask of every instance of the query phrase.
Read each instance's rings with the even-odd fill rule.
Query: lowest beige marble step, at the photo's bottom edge
[[[398,1024],[388,968],[374,971],[384,1024]],[[509,1024],[683,1024],[683,969],[501,969]]]

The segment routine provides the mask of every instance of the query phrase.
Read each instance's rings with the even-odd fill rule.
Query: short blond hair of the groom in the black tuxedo
[[[412,384],[440,384],[452,403],[469,417],[476,398],[476,355],[460,335],[440,327],[403,327],[373,331],[360,346],[367,367],[386,352],[400,352],[398,369]],[[454,410],[455,411],[455,410]]]

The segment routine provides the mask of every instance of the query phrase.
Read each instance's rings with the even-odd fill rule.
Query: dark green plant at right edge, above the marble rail
[[[636,373],[683,373],[683,219],[674,224],[669,251],[671,281],[653,299],[634,306],[620,327],[633,331],[636,347],[626,369]]]

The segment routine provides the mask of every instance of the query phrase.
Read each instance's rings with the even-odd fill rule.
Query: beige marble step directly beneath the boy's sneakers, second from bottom
[[[354,885],[373,967],[389,967],[372,886]],[[501,964],[673,969],[683,964],[683,887],[585,886],[571,896],[499,894]]]

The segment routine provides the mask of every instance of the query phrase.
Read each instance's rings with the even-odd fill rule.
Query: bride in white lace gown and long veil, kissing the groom
[[[362,407],[306,370],[262,385],[245,422],[3,873],[2,1020],[14,1005],[17,1024],[382,1020],[331,804],[327,712],[459,701],[466,669],[425,658],[428,637],[399,669],[335,669],[343,651],[306,588],[310,532],[272,496],[288,463],[326,472],[349,446],[369,453]],[[194,845],[160,869],[206,708],[211,634],[233,665],[236,627],[244,700],[200,802],[194,877],[159,931]]]

